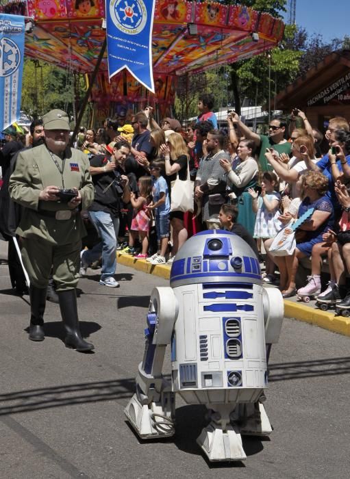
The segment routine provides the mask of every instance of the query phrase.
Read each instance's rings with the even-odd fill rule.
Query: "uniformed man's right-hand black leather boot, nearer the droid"
[[[64,328],[66,328],[66,337],[64,344],[67,348],[74,348],[77,351],[90,351],[95,348],[91,343],[84,341],[79,330],[77,294],[75,289],[67,289],[58,292],[60,300],[60,310]]]

